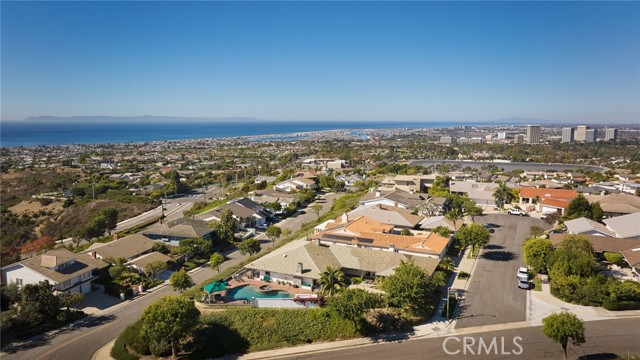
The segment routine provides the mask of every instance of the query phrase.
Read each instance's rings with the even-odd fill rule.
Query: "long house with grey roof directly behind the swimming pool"
[[[402,261],[413,261],[428,274],[432,274],[439,263],[431,257],[296,240],[247,264],[245,269],[264,281],[315,287],[327,266],[340,269],[348,276],[373,278],[392,275]]]

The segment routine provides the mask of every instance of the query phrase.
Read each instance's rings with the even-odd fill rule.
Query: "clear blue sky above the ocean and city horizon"
[[[2,120],[640,121],[639,2],[6,2]]]

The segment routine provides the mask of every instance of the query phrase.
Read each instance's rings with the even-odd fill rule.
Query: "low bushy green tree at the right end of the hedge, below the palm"
[[[355,331],[362,323],[363,313],[382,304],[382,297],[362,289],[346,289],[329,299],[329,308],[338,316],[351,321]]]

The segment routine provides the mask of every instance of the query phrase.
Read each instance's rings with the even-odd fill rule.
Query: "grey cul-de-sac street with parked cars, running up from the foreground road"
[[[522,241],[532,225],[549,228],[539,219],[491,214],[475,217],[476,223],[500,225],[476,259],[469,288],[456,328],[526,320],[527,290],[518,288],[516,272],[524,266]]]

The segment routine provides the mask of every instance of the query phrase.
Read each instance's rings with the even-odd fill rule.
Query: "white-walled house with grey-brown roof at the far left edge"
[[[2,268],[2,283],[18,286],[49,282],[57,293],[81,293],[91,291],[91,283],[97,273],[108,266],[102,260],[88,254],[74,254],[67,249],[46,253]]]

